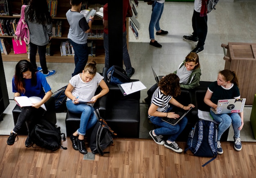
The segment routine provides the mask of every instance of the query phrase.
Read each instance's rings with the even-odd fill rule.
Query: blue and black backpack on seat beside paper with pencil
[[[124,84],[130,82],[130,78],[127,76],[126,71],[119,66],[112,66],[107,71],[108,83],[110,84]]]

